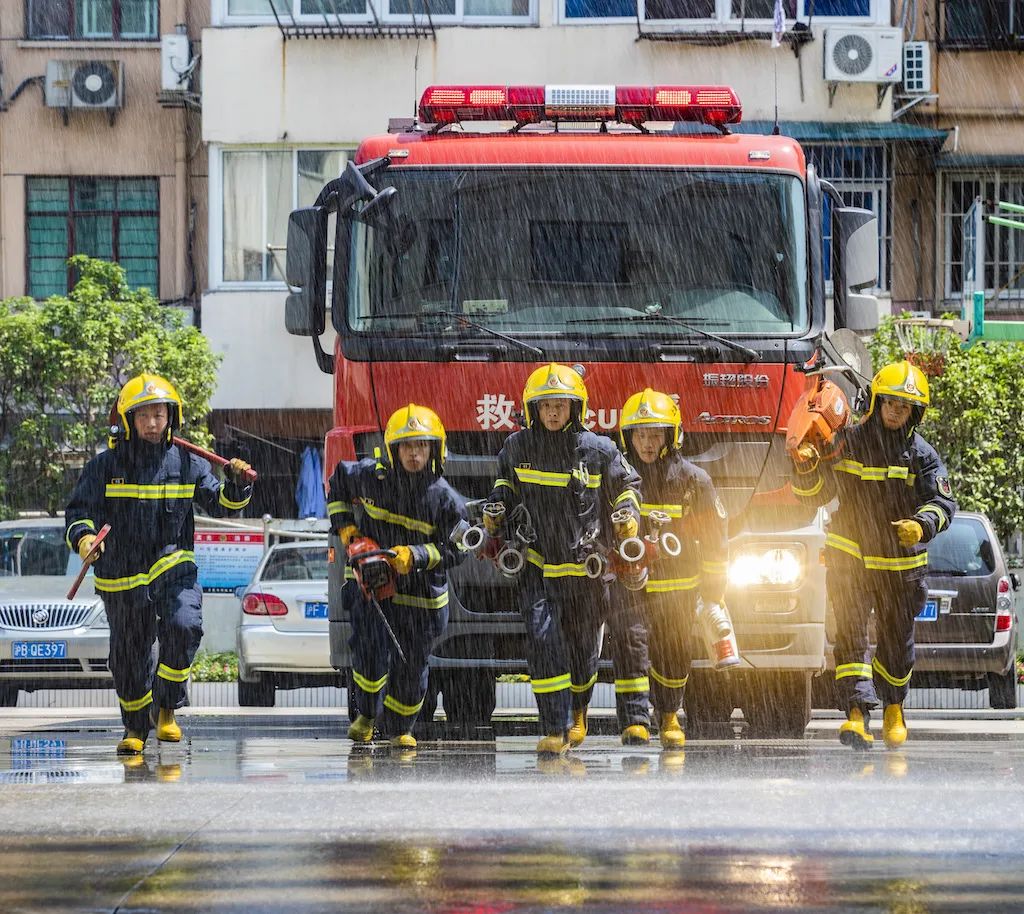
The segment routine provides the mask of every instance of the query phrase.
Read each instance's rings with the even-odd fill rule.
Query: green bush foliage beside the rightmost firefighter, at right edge
[[[876,367],[904,357],[894,318],[869,343]],[[921,433],[942,455],[959,507],[982,511],[999,536],[1024,526],[1024,346],[919,334],[911,361],[929,376]]]

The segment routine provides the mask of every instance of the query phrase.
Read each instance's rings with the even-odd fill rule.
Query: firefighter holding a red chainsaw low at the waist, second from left
[[[463,558],[452,533],[466,507],[441,475],[444,426],[432,409],[396,409],[384,448],[386,460],[378,451],[338,464],[328,516],[348,559],[341,605],[351,625],[350,706],[358,711],[348,738],[369,743],[376,730],[400,752],[416,748],[430,652],[447,624],[447,569]],[[378,550],[390,555],[366,558]],[[375,561],[386,561],[394,575],[380,587],[372,585],[382,570]]]

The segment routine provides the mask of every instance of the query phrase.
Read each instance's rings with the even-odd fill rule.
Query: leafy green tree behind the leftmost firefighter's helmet
[[[84,461],[106,446],[121,385],[141,372],[170,380],[182,437],[207,444],[219,356],[182,312],[132,290],[114,263],[76,255],[68,296],[0,301],[0,515],[60,510]]]

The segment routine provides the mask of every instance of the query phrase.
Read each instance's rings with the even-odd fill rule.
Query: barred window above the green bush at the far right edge
[[[943,274],[947,301],[958,304],[964,294],[964,217],[977,198],[1024,204],[1024,171],[946,173],[942,194]],[[989,210],[988,212],[991,212]],[[1017,217],[1011,217],[1017,218]],[[1024,234],[985,223],[983,288],[993,310],[1017,310],[1024,300]],[[958,307],[954,310],[958,310]]]

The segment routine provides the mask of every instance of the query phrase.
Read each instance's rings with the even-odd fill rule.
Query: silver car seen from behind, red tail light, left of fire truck
[[[331,666],[327,543],[279,543],[237,592],[239,704],[271,707],[278,689],[341,686]]]

